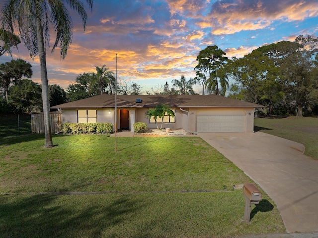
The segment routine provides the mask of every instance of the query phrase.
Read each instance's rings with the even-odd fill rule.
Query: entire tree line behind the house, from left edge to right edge
[[[217,46],[208,46],[197,56],[194,79],[181,76],[171,81],[172,87],[165,82],[146,93],[196,94],[193,86],[200,84],[203,95],[228,93],[229,97],[267,106],[268,114],[318,114],[317,44],[317,38],[301,35],[294,42],[262,46],[239,59],[229,59]],[[41,85],[29,80],[31,77],[31,65],[24,60],[0,65],[2,113],[43,110]],[[229,85],[229,79],[234,83]],[[50,106],[103,93],[114,94],[115,84],[115,75],[109,68],[95,66],[95,72],[80,74],[66,90],[57,84],[48,85]],[[119,80],[117,93],[139,95],[142,86]]]

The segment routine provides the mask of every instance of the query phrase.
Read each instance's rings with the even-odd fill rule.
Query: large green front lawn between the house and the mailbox
[[[3,237],[235,237],[285,232],[263,193],[243,222],[251,180],[199,137],[20,137],[0,145]],[[57,194],[56,192],[61,192]],[[74,192],[72,195],[63,195]],[[81,192],[81,193],[79,193]]]

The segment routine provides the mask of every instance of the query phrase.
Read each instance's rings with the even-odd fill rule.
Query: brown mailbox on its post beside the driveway
[[[252,183],[245,183],[243,186],[243,194],[245,196],[244,221],[250,221],[250,206],[258,204],[262,200],[262,193]]]

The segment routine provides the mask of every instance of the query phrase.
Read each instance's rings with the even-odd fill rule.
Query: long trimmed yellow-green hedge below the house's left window
[[[111,123],[62,123],[63,134],[112,133]]]

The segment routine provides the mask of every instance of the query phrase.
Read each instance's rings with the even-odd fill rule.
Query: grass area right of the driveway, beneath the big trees
[[[279,136],[305,146],[305,155],[318,159],[318,118],[257,118],[255,130]]]

